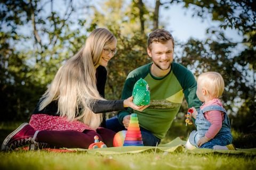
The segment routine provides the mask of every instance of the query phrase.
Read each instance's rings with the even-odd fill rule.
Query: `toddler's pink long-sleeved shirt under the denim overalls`
[[[211,101],[203,104],[200,108],[203,109],[210,105],[219,105],[222,107],[221,100],[214,98]],[[224,113],[221,111],[209,111],[204,113],[204,117],[211,123],[209,130],[205,133],[205,137],[212,139],[221,129],[222,121],[225,118]]]

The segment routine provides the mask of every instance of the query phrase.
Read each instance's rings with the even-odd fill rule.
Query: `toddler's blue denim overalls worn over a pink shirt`
[[[203,109],[198,109],[197,111],[198,114],[196,116],[196,121],[195,121],[195,124],[197,126],[197,131],[193,131],[190,133],[189,142],[198,148],[197,142],[199,141],[199,139],[204,137],[205,133],[207,132],[207,130],[209,130],[211,126],[211,123],[208,120],[206,120],[206,118],[204,117],[204,113],[208,111],[221,111],[225,113],[225,116],[224,116],[225,118],[222,121],[222,127],[220,131],[215,135],[215,137],[209,140],[208,142],[204,143],[200,148],[213,149],[213,146],[215,145],[220,145],[220,146],[229,145],[232,142],[229,118],[226,110],[223,107],[218,105],[211,105]]]

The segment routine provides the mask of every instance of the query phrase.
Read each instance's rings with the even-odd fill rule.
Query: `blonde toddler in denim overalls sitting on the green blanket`
[[[224,90],[224,81],[217,72],[206,72],[197,79],[196,95],[203,105],[196,111],[193,107],[197,131],[189,135],[187,149],[210,148],[235,150],[226,110],[219,99]]]

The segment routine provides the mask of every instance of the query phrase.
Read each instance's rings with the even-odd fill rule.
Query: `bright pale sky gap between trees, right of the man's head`
[[[174,39],[180,41],[187,41],[189,38],[205,39],[206,29],[211,25],[217,27],[219,22],[211,21],[209,18],[202,21],[199,17],[192,17],[193,11],[191,9],[182,8],[182,5],[174,4],[168,10],[161,8],[159,13],[160,22],[164,22],[165,29],[169,30]],[[242,41],[242,36],[238,35],[236,30],[227,29],[225,31],[227,37],[232,38],[235,42]]]

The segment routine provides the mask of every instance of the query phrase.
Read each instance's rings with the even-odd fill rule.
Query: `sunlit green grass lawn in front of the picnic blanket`
[[[0,123],[0,142],[19,124]],[[44,150],[0,152],[0,169],[256,169],[256,157],[230,154],[142,152],[99,155]]]

